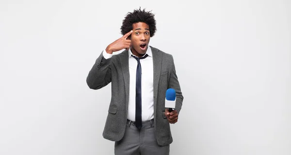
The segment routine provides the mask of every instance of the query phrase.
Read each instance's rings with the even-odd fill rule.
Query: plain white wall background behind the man
[[[86,77],[139,6],[185,97],[171,155],[291,155],[290,0],[0,0],[0,155],[113,155]]]

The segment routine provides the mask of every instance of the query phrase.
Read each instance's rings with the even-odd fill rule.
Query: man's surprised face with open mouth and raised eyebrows
[[[138,22],[132,24],[132,29],[130,50],[134,55],[141,57],[148,48],[150,39],[149,27],[144,22]]]

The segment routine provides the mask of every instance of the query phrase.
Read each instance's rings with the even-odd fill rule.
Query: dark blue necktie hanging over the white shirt
[[[136,57],[131,55],[137,60],[136,68],[136,84],[135,84],[135,126],[138,129],[142,128],[142,67],[140,59],[145,59],[148,55],[143,57]]]

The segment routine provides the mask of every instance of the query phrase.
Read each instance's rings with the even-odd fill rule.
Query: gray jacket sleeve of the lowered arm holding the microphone
[[[174,64],[174,59],[173,56],[171,55],[171,72],[170,72],[170,79],[169,79],[169,85],[168,88],[173,88],[176,91],[176,110],[178,111],[178,113],[180,112],[181,108],[182,108],[182,102],[183,102],[183,95],[181,92],[181,88],[180,88],[180,84],[178,81],[178,76],[176,74],[176,68],[175,68],[175,64]]]

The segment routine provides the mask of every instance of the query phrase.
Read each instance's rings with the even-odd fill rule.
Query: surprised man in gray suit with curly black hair
[[[91,89],[112,83],[103,137],[115,141],[115,155],[169,155],[170,123],[178,121],[183,96],[172,55],[148,45],[155,32],[151,12],[128,13],[123,36],[107,46],[87,77]],[[168,88],[176,90],[172,112],[165,108]]]

